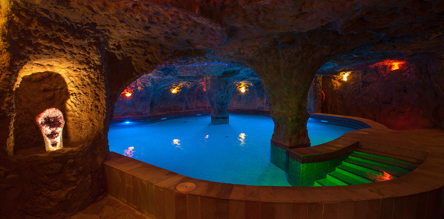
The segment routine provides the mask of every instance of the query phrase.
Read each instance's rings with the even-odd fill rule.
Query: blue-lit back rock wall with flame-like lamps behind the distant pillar
[[[268,97],[257,76],[241,73],[234,77],[229,110],[270,111]],[[246,88],[241,92],[242,87]],[[176,92],[171,91],[176,88]],[[131,96],[125,96],[127,92]],[[210,111],[204,76],[153,78],[149,74],[127,86],[115,103],[114,118],[147,117],[186,111]]]

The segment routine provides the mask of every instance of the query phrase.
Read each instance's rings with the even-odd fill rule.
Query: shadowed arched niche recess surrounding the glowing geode
[[[44,151],[44,140],[35,117],[48,108],[58,108],[66,119],[65,102],[69,99],[66,81],[59,73],[45,71],[24,76],[15,90],[14,151]],[[66,141],[66,128],[63,129]]]

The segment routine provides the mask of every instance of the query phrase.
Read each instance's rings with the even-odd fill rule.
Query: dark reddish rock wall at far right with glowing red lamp
[[[396,129],[444,127],[444,59],[420,54],[322,77],[322,112],[371,119]]]

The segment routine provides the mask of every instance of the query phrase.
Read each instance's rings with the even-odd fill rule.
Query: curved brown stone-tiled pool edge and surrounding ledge
[[[325,154],[330,156],[331,153],[340,153],[337,151],[347,150],[354,144],[356,147],[374,150],[390,147],[396,149],[396,153],[404,151],[404,155],[417,151],[422,153],[423,158],[426,154],[426,158],[411,173],[389,181],[347,186],[284,187],[194,179],[110,152],[103,165],[107,192],[150,218],[174,218],[174,215],[178,217],[183,214],[188,215],[188,218],[195,218],[190,216],[195,214],[240,214],[241,218],[245,218],[245,215],[251,214],[271,214],[262,217],[271,219],[278,218],[277,215],[282,212],[291,215],[284,207],[289,204],[292,206],[290,211],[298,208],[307,215],[316,215],[319,212],[326,214],[330,211],[333,214],[346,215],[350,208],[352,212],[359,211],[366,215],[393,215],[399,213],[398,211],[424,216],[444,215],[444,201],[441,201],[444,200],[444,145],[442,139],[440,140],[443,130],[395,131],[368,119],[317,115],[357,119],[369,124],[371,128],[348,132],[318,146],[292,149],[291,154],[300,155],[302,159]],[[192,182],[197,184],[197,188],[190,192],[180,192],[176,185],[182,182]],[[387,202],[392,206],[391,209],[387,209]],[[277,209],[281,210],[278,212]]]

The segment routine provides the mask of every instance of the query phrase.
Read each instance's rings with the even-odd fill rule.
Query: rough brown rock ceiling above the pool
[[[23,29],[52,21],[53,36],[57,25],[86,28],[107,51],[131,57],[139,74],[205,62],[243,68],[283,37],[329,47],[321,72],[440,53],[444,41],[440,0],[16,0],[12,12]]]

